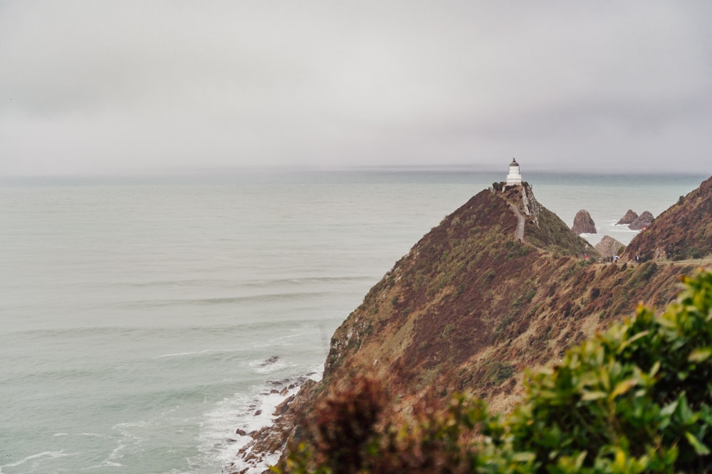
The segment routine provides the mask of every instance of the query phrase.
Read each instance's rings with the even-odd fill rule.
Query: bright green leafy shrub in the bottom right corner
[[[641,307],[533,376],[511,448],[550,472],[708,471],[712,274],[686,284],[661,316]]]

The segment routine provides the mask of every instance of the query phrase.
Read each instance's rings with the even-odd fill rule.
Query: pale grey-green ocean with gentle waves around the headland
[[[503,173],[0,181],[0,473],[224,473],[417,240]],[[568,225],[707,176],[527,174]],[[291,389],[292,392],[295,388]],[[231,464],[233,464],[232,467]],[[258,472],[253,468],[252,472]]]

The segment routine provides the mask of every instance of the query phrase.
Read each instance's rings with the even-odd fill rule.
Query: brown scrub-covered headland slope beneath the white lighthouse
[[[528,186],[478,193],[367,293],[335,331],[323,380],[305,384],[264,438],[303,437],[313,406],[365,373],[388,387],[384,417],[464,389],[507,410],[524,368],[557,360],[639,301],[664,305],[693,269],[597,257]]]

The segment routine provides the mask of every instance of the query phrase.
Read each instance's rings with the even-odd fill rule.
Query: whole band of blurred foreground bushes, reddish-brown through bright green
[[[632,320],[531,376],[523,403],[506,419],[457,395],[445,407],[417,407],[414,424],[384,424],[377,416],[383,397],[376,382],[360,379],[329,399],[318,410],[314,441],[273,470],[711,472],[712,274],[684,279],[661,315],[641,306]]]

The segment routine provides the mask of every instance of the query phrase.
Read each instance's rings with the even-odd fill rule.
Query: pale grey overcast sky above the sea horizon
[[[712,1],[0,0],[0,176],[712,173]]]

